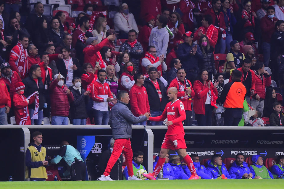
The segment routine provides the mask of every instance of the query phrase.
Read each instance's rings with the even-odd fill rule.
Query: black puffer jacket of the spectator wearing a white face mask
[[[69,87],[73,93],[74,101],[70,103],[70,118],[71,119],[87,119],[86,105],[89,102],[89,96],[85,96],[85,89],[81,88],[81,94],[79,89],[74,89],[73,85]]]

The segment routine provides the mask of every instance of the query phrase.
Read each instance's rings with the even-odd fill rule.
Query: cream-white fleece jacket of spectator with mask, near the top
[[[126,16],[128,16],[129,25],[128,25],[127,20],[126,20],[126,18],[127,18]],[[117,12],[114,15],[113,22],[114,22],[114,30],[115,31],[124,31],[125,33],[128,33],[129,30],[134,29],[137,33],[139,33],[136,21],[135,21],[132,13],[128,13],[128,15],[125,15],[122,12]]]

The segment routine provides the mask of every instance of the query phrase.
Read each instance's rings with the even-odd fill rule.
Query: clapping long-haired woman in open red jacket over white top
[[[199,126],[212,126],[212,112],[216,106],[218,91],[216,86],[219,84],[215,82],[214,85],[209,80],[207,70],[201,70],[198,80],[193,84],[195,92],[193,101],[193,110],[195,118]]]

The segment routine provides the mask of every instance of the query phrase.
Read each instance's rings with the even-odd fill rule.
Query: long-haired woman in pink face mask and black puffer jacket
[[[216,73],[216,71],[214,71],[214,47],[210,46],[208,37],[206,35],[202,35],[199,38],[199,47],[203,54],[203,59],[199,61],[199,69],[207,70],[208,79],[212,80],[212,74],[214,74],[214,72]]]

